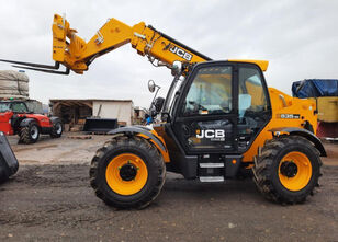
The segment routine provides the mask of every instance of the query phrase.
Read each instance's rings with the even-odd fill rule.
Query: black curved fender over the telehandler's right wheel
[[[284,134],[291,135],[291,136],[294,136],[294,135],[302,136],[315,145],[317,150],[319,150],[320,152],[320,157],[327,157],[325,148],[320,139],[318,139],[318,137],[316,137],[313,132],[308,131],[307,129],[304,129],[304,128],[273,128],[273,129],[270,129],[269,131],[271,131],[273,136],[279,136],[279,135],[284,135]]]

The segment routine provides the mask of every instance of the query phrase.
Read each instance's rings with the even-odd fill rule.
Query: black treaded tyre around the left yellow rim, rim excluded
[[[147,181],[139,192],[121,195],[110,187],[105,174],[109,163],[117,155],[126,153],[135,154],[143,160],[147,170]],[[122,136],[108,141],[97,151],[91,161],[89,175],[97,196],[105,204],[115,208],[144,208],[160,193],[165,183],[166,165],[157,148],[147,140]]]

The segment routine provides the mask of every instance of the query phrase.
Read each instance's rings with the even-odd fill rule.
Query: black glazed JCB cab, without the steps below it
[[[243,153],[271,118],[262,71],[248,62],[198,64],[172,108],[172,129],[185,153]]]

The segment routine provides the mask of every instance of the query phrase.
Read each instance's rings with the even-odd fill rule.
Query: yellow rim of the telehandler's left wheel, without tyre
[[[120,154],[108,164],[105,180],[110,188],[116,194],[136,194],[147,183],[147,165],[138,155],[132,153]]]

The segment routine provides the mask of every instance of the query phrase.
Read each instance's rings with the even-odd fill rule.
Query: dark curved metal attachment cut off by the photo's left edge
[[[19,162],[2,131],[0,131],[0,182],[15,174]]]

